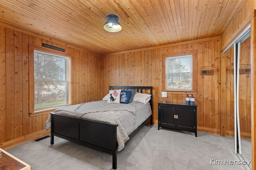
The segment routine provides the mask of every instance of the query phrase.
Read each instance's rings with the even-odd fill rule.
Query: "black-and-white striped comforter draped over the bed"
[[[117,142],[118,151],[124,148],[124,143],[129,139],[128,135],[134,131],[136,117],[136,105],[134,104],[110,104],[106,101],[82,103],[78,105],[60,107],[54,111],[62,115],[69,115],[94,121],[118,124]],[[46,131],[50,129],[50,117],[45,125]]]

